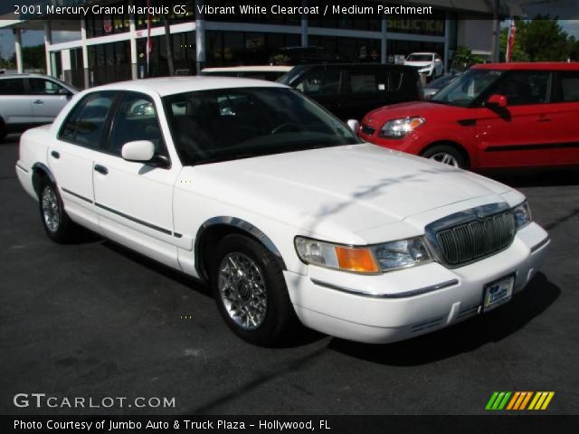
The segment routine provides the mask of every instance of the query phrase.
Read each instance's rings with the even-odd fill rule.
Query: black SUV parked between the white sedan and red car
[[[384,104],[420,99],[418,74],[403,65],[300,65],[278,82],[303,92],[342,120],[359,120]]]

